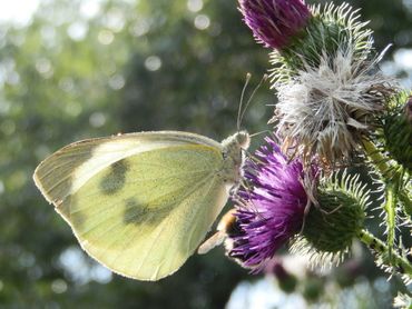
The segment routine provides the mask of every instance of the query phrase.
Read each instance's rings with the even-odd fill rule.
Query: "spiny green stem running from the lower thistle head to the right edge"
[[[382,263],[389,266],[392,271],[396,271],[401,276],[405,276],[409,280],[412,280],[412,265],[409,262],[408,258],[402,257],[396,251],[392,251],[392,257],[390,257],[390,248],[365,229],[361,230],[357,237],[382,259]]]

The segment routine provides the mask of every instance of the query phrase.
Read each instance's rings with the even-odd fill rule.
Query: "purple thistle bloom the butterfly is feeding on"
[[[251,188],[241,188],[236,231],[229,235],[228,256],[244,267],[259,271],[303,223],[308,197],[306,173],[298,159],[290,161],[269,138],[256,151],[257,163],[248,161],[245,178]]]

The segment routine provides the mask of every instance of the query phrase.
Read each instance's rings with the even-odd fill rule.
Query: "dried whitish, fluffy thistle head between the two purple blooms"
[[[304,162],[317,156],[327,167],[346,162],[394,91],[392,79],[374,64],[354,58],[351,49],[341,50],[279,86],[272,121],[278,121],[284,151],[302,156]]]

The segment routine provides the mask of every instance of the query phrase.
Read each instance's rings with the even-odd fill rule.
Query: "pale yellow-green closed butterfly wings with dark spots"
[[[175,272],[228,198],[219,143],[192,133],[144,132],[69,144],[35,181],[81,247],[140,280]]]

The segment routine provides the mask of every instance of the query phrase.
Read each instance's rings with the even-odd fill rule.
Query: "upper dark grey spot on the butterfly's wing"
[[[119,191],[126,182],[126,173],[129,166],[126,159],[119,160],[110,166],[110,172],[108,172],[100,181],[101,191],[111,196]]]

